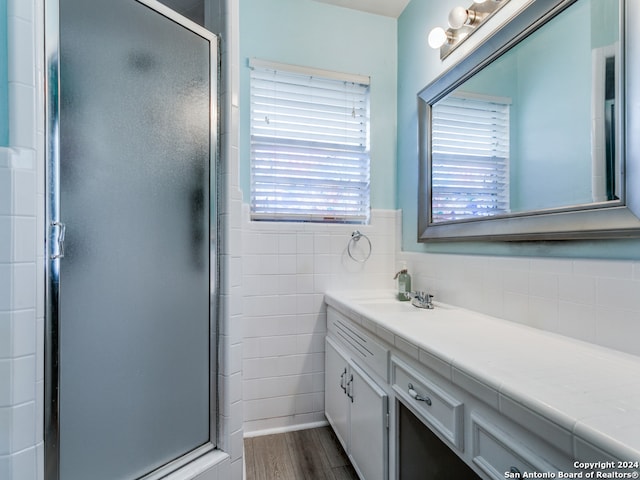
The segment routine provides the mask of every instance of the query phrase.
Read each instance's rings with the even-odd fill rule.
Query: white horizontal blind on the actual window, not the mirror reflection
[[[251,218],[366,223],[369,210],[368,82],[253,64]]]

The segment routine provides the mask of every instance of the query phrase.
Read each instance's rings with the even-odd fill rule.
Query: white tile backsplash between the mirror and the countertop
[[[640,355],[640,262],[399,253],[437,300]]]

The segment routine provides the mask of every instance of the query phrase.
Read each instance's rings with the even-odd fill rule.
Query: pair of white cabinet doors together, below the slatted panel
[[[354,468],[364,480],[385,480],[388,471],[388,396],[327,337],[325,414]]]

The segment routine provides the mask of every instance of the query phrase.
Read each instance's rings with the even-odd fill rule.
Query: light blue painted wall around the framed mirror
[[[479,255],[640,259],[640,240],[633,239],[570,242],[418,243],[416,95],[452,65],[452,60],[442,62],[438,52],[430,49],[426,40],[428,32],[433,27],[446,24],[449,11],[459,3],[458,0],[437,2],[411,0],[398,19],[397,205],[402,209],[403,215],[402,249],[414,252]],[[480,35],[480,31],[477,35]],[[471,40],[467,43],[471,43]],[[464,52],[465,48],[461,47],[459,50]],[[452,55],[452,57],[454,56]]]

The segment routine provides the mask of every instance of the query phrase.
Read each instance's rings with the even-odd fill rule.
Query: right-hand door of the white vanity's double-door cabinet
[[[349,458],[366,480],[384,480],[388,471],[386,393],[358,366],[351,364],[351,444]]]

